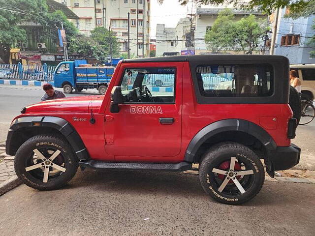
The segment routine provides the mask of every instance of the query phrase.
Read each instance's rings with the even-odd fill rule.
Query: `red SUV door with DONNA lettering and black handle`
[[[114,155],[116,161],[148,162],[179,154],[183,63],[123,63],[120,69],[123,72],[116,85],[121,86],[125,100],[137,88],[141,99],[120,104],[118,113],[106,109],[106,152]],[[157,79],[167,86],[157,87]],[[145,86],[153,100],[146,94]]]

